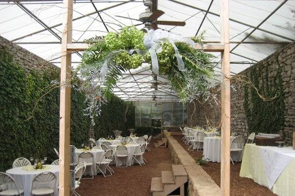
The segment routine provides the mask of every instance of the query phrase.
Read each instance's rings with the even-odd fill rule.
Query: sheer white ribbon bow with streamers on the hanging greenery
[[[148,34],[146,34],[144,37],[144,46],[148,49],[150,57],[151,57],[152,71],[157,75],[159,74],[159,64],[158,64],[157,53],[162,51],[162,47],[160,46],[160,43],[164,43],[165,41],[170,42],[175,50],[178,69],[180,71],[185,71],[184,63],[180,57],[177,47],[175,46],[175,43],[183,42],[194,47],[195,42],[191,39],[183,38],[176,33],[168,32],[166,30],[151,29],[151,30],[148,30]]]

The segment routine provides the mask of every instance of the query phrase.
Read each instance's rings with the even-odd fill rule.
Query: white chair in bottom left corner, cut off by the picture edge
[[[23,196],[24,190],[18,189],[15,180],[7,173],[0,172],[0,196]]]

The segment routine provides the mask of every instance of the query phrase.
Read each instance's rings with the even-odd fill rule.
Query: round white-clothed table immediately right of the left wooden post
[[[75,162],[78,164],[79,163],[79,155],[85,152],[84,149],[75,149]],[[104,157],[104,150],[101,149],[92,149],[92,150],[87,150],[87,152],[90,152],[93,155],[93,173],[95,174],[96,171],[96,163],[100,162]],[[105,171],[103,171],[105,172]],[[85,174],[92,175],[92,172],[90,170],[90,167],[86,168],[86,171],[84,172]]]

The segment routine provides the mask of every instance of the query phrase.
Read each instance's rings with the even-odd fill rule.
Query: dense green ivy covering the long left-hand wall
[[[18,157],[47,156],[48,163],[58,159],[53,148],[59,148],[59,88],[50,90],[50,84],[59,80],[59,69],[51,64],[46,69],[36,66],[29,70],[22,59],[14,58],[17,51],[0,46],[0,172],[11,168]],[[28,58],[34,58],[27,52]],[[85,108],[85,95],[72,88],[71,144],[77,147],[89,142],[90,121],[84,115]],[[95,138],[113,135],[115,129],[126,133],[126,128],[134,127],[134,113],[132,103],[112,95],[102,115],[95,119]]]

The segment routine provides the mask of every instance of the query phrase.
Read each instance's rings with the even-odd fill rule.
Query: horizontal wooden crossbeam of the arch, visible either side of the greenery
[[[88,44],[67,44],[67,50],[68,51],[83,51],[85,49],[88,49],[89,45]],[[224,45],[223,44],[196,44],[195,49],[203,49],[204,51],[207,52],[222,52],[224,50]]]

